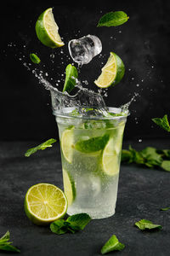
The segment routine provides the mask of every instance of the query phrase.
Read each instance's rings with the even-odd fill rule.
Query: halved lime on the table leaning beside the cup
[[[34,224],[44,225],[63,218],[67,210],[64,192],[49,183],[39,183],[28,189],[25,211]]]

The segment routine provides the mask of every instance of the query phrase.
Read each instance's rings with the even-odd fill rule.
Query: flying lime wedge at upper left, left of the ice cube
[[[42,44],[51,47],[61,47],[64,45],[59,37],[59,26],[57,26],[52,8],[46,9],[37,19],[36,32],[37,38]]]

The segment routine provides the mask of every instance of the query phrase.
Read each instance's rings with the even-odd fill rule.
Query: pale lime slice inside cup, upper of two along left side
[[[62,152],[65,156],[65,160],[67,160],[70,164],[72,162],[72,150],[73,150],[73,127],[71,129],[66,129],[63,131],[61,136],[61,148]]]

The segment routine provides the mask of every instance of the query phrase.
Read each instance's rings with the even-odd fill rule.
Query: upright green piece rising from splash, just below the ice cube
[[[63,92],[67,91],[68,93],[75,87],[77,84],[76,79],[78,77],[77,67],[72,66],[71,64],[67,65],[65,68],[65,84]]]

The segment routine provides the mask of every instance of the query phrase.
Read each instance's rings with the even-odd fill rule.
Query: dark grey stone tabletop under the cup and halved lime
[[[169,148],[168,141],[126,142],[124,148],[129,143],[141,149]],[[77,234],[57,236],[48,227],[31,224],[23,208],[27,189],[42,182],[63,188],[59,143],[26,158],[26,149],[37,144],[0,143],[0,236],[9,230],[14,246],[20,247],[20,255],[97,256],[113,234],[126,247],[108,255],[170,255],[170,211],[160,211],[161,207],[170,207],[170,173],[161,170],[122,165],[116,214],[91,221]],[[161,224],[163,229],[141,231],[134,226],[141,218]]]

